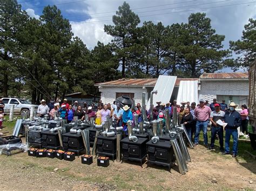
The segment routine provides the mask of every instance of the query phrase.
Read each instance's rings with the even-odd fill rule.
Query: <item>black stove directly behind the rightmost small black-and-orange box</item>
[[[117,136],[104,137],[99,135],[97,138],[97,154],[105,157],[116,157],[117,154]]]

